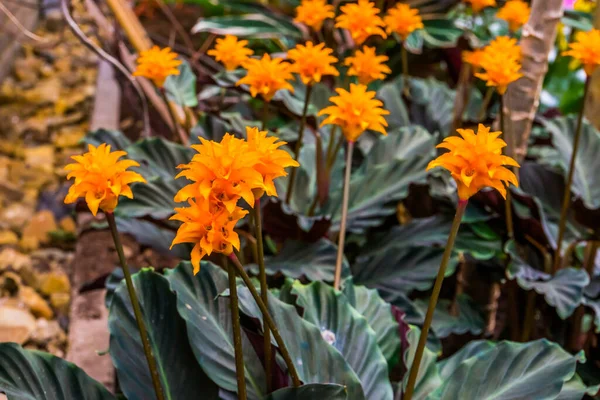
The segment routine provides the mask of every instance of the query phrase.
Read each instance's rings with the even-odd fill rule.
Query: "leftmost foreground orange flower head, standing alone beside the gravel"
[[[65,169],[69,171],[67,179],[75,178],[75,182],[69,188],[65,203],[74,203],[84,197],[96,216],[98,209],[112,212],[119,196],[133,198],[129,184],[146,180],[137,172],[127,171],[139,164],[133,160],[119,161],[125,155],[124,151],[111,153],[110,145],[103,143],[98,147],[90,144],[87,153],[71,157],[76,162],[66,165]]]

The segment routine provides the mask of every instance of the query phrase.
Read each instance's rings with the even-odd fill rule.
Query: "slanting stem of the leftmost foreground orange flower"
[[[150,376],[152,377],[152,384],[154,385],[154,393],[156,393],[156,398],[158,400],[164,400],[165,397],[163,394],[162,385],[160,383],[160,378],[158,376],[156,360],[152,355],[152,348],[150,347],[150,339],[148,338],[148,332],[146,331],[146,326],[144,324],[142,309],[140,308],[140,303],[138,302],[137,295],[135,294],[135,287],[133,286],[133,280],[131,279],[131,271],[129,270],[129,266],[125,260],[125,254],[123,253],[123,245],[121,244],[119,232],[117,231],[115,215],[112,212],[106,212],[105,214],[106,220],[108,221],[108,226],[110,227],[110,233],[112,234],[113,241],[115,242],[117,254],[119,255],[119,262],[121,263],[121,268],[123,268],[123,273],[125,274],[127,292],[129,292],[129,299],[131,300],[133,314],[135,315],[135,321],[137,322],[138,330],[140,332],[144,354],[146,355],[146,362],[148,363],[148,368],[150,369]]]

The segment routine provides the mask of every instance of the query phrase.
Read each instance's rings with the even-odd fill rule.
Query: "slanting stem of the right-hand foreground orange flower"
[[[423,329],[421,330],[421,336],[419,337],[419,344],[417,345],[415,358],[413,359],[413,363],[410,367],[410,375],[408,376],[408,383],[406,385],[406,391],[404,392],[403,400],[411,400],[414,393],[419,366],[421,364],[421,359],[423,358],[423,351],[425,349],[425,344],[427,343],[427,335],[429,334],[429,328],[431,327],[431,321],[433,319],[433,312],[435,311],[435,306],[437,305],[437,300],[440,296],[440,290],[442,289],[442,283],[444,282],[448,260],[450,260],[452,248],[454,247],[454,240],[456,239],[458,227],[460,226],[460,221],[465,213],[467,204],[467,200],[458,201],[458,207],[456,209],[456,214],[454,215],[454,221],[452,221],[452,228],[450,229],[448,242],[446,243],[446,248],[444,249],[442,263],[440,265],[437,277],[435,278],[435,284],[433,285],[431,298],[429,299],[429,306],[427,307],[427,314],[425,315],[425,322],[423,323]]]

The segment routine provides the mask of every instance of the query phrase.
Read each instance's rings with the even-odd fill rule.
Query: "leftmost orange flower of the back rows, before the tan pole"
[[[148,78],[156,87],[162,88],[167,77],[179,75],[177,67],[181,65],[181,60],[177,60],[177,53],[171,52],[169,47],[161,50],[160,47],[154,46],[150,50],[142,51],[137,63],[133,75]]]

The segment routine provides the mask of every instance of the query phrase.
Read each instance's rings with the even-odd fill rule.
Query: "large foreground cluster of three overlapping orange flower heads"
[[[182,224],[171,246],[193,243],[191,261],[194,273],[200,270],[200,260],[213,252],[231,254],[239,249],[234,231],[236,223],[247,211],[239,207],[244,199],[251,207],[264,192],[276,196],[273,180],[287,175],[285,168],[299,164],[279,147],[285,142],[267,136],[257,128],[246,128],[248,140],[226,134],[220,142],[200,138],[192,148],[198,152],[191,162],[180,165],[177,175],[192,183],[175,196],[176,202],[189,206],[176,208],[173,220]]]

